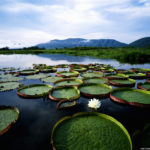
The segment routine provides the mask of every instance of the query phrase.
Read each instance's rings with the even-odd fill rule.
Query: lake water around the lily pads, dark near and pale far
[[[149,64],[131,65],[120,64],[112,59],[96,59],[92,57],[80,57],[69,55],[0,55],[0,68],[17,67],[29,68],[32,64],[110,64],[118,69],[129,69],[133,67],[150,68]],[[59,70],[62,70],[61,68]],[[52,76],[55,73],[50,73]],[[24,76],[22,76],[24,78]],[[137,80],[137,82],[144,82]],[[40,83],[41,80],[20,81],[24,85]],[[51,84],[53,85],[53,84]],[[113,87],[114,88],[114,87]],[[4,135],[0,136],[0,146],[4,150],[49,150],[51,149],[50,137],[55,123],[65,116],[77,112],[89,112],[89,99],[80,97],[77,105],[65,110],[57,110],[57,103],[48,98],[23,99],[16,94],[17,90],[0,92],[0,105],[16,106],[20,111],[17,123]],[[136,129],[142,128],[145,123],[150,122],[150,109],[137,108],[112,102],[109,98],[101,100],[102,105],[97,112],[111,115],[120,121],[132,136]]]

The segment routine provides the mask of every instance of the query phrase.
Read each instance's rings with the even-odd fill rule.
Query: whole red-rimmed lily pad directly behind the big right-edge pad
[[[119,87],[133,87],[135,86],[135,80],[127,79],[127,80],[109,80],[111,85],[119,86]]]

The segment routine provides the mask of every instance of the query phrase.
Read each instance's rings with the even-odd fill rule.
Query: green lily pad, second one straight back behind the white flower
[[[83,81],[86,82],[86,83],[97,83],[97,84],[108,83],[108,79],[102,78],[102,77],[83,78]]]

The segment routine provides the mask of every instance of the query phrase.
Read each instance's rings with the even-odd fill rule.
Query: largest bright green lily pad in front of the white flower
[[[51,143],[53,150],[132,150],[125,127],[102,113],[77,113],[59,120]]]

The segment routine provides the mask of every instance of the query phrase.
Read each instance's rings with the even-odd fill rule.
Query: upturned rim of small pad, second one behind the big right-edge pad
[[[117,75],[116,77],[111,77],[110,75]],[[105,78],[107,79],[118,79],[118,80],[126,80],[129,78],[128,75],[125,75],[125,74],[122,74],[122,73],[117,73],[117,74],[112,74],[112,73],[109,73],[109,74],[106,74],[105,75]]]

